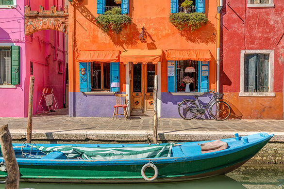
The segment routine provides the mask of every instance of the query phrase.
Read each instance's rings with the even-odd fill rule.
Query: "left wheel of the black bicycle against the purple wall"
[[[184,100],[179,104],[179,114],[184,119],[193,119],[196,117],[196,112],[191,112],[191,108],[198,108],[193,100]]]

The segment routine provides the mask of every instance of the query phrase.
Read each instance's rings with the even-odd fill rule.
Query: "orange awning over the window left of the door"
[[[117,63],[119,54],[119,50],[80,50],[75,61]]]

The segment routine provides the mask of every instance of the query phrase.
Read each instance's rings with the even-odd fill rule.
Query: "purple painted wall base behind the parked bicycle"
[[[161,118],[182,118],[179,114],[178,106],[184,99],[194,100],[195,97],[193,95],[172,95],[171,93],[161,93]],[[205,105],[211,99],[211,95],[204,94],[200,96],[199,99],[200,103]],[[213,119],[209,115],[209,110],[207,110],[202,116],[196,116],[196,118]]]

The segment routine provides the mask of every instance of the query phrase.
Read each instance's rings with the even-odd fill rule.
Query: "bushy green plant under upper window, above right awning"
[[[179,30],[185,27],[190,28],[191,32],[201,28],[208,21],[204,13],[174,13],[169,16],[169,21]]]

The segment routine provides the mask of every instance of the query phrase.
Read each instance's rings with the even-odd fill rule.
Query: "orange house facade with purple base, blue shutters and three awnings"
[[[83,0],[74,4],[73,0],[68,8],[71,117],[112,117],[117,93],[128,94],[128,114],[152,115],[154,75],[159,77],[161,118],[179,117],[178,104],[184,98],[194,99],[193,94],[216,88],[217,1],[193,2],[195,11],[203,12],[208,21],[191,32],[179,31],[169,21],[171,14],[181,10],[178,0],[122,0],[122,11],[128,6],[126,15],[132,23],[119,34],[104,33],[96,23],[101,2],[104,8],[110,3]],[[185,76],[194,79],[190,92]],[[200,97],[203,102],[209,98]]]

